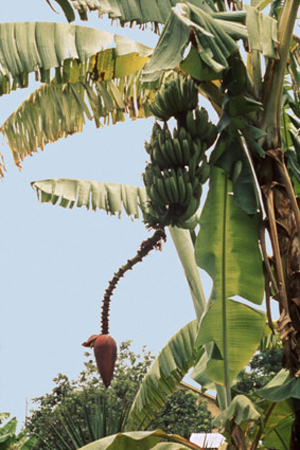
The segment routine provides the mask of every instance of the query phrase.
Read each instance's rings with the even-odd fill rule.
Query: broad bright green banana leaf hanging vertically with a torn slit
[[[197,264],[212,277],[213,290],[196,344],[209,344],[206,375],[227,387],[247,365],[264,332],[265,315],[232,299],[240,296],[255,304],[263,300],[258,232],[258,217],[248,216],[236,205],[228,176],[212,167],[195,256]]]

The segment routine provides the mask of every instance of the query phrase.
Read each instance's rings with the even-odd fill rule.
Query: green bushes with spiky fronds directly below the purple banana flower
[[[38,407],[28,418],[28,429],[38,436],[35,450],[76,449],[124,429],[138,387],[153,360],[151,352],[131,350],[130,341],[119,346],[115,375],[106,390],[89,353],[78,379],[54,378],[50,394],[36,398]]]

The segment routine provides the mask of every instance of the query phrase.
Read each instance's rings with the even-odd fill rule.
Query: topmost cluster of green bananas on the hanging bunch
[[[198,103],[198,88],[191,77],[174,74],[155,94],[150,111],[158,119],[167,122],[172,116],[195,109]]]

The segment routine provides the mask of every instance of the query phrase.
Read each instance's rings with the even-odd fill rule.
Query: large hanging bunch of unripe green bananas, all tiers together
[[[185,98],[188,98],[191,91],[187,89],[191,90],[191,84],[184,77],[178,76],[169,81],[164,85],[164,90],[157,94],[160,108],[164,107],[164,111],[169,109],[169,112],[179,111],[183,99],[179,104],[178,92],[185,92]],[[202,185],[209,177],[210,166],[205,152],[215,141],[217,129],[209,121],[204,108],[195,109],[196,103],[185,101],[185,116],[177,118],[178,126],[174,127],[173,133],[166,121],[163,125],[156,122],[150,141],[145,143],[151,162],[146,165],[144,173],[149,198],[144,220],[152,228],[168,225],[185,227],[189,220],[196,217]],[[176,113],[172,115],[176,117]]]

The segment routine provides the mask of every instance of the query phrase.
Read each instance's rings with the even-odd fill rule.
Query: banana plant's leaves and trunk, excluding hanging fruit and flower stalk
[[[53,8],[60,6],[69,21],[76,11],[86,20],[89,11],[97,10],[121,25],[152,24],[154,31],[161,31],[155,49],[149,49],[69,24],[48,24],[46,34],[38,23],[3,24],[0,29],[5,36],[0,49],[1,93],[26,86],[33,71],[43,82],[1,127],[17,165],[48,142],[82,131],[85,117],[95,120],[96,126],[101,118],[123,120],[124,113],[131,118],[154,115],[162,123],[156,123],[146,146],[150,163],[144,191],[76,180],[33,183],[42,201],[92,206],[111,214],[124,208],[135,217],[140,210],[147,226],[171,227],[195,305],[196,334],[193,328],[193,339],[184,332],[179,343],[175,336],[167,344],[137,395],[130,426],[147,426],[149,411],[160,408],[166,393],[176,388],[177,375],[194,367],[193,378],[217,392],[222,409],[217,423],[232,448],[255,450],[260,440],[266,447],[281,449],[282,442],[289,442],[290,449],[298,448],[300,54],[294,28],[299,2],[263,0],[243,7],[239,0],[229,6],[222,0],[156,0],[150,7],[144,1],[56,0],[58,5],[46,1]],[[267,6],[269,12],[264,13]],[[52,80],[51,68],[55,68]],[[192,91],[184,83],[180,95],[173,90],[173,80],[179,77],[193,80],[197,101],[205,97],[218,114],[214,138],[204,139],[205,126],[198,120],[204,112],[186,102]],[[171,137],[170,117],[177,121]],[[172,154],[165,145],[170,140]],[[193,148],[188,160],[185,141]],[[205,153],[209,147],[210,155]],[[206,181],[199,231],[197,220],[191,224],[189,219],[197,217]],[[184,253],[191,246],[192,256],[188,250]],[[213,280],[207,301],[196,264]],[[285,358],[283,376],[270,390],[258,393],[265,402],[260,408],[260,400],[236,396],[234,384],[263,336],[265,316],[256,305],[264,297],[271,329],[271,299],[279,306],[276,327]],[[289,403],[285,422],[271,414],[278,402]],[[265,432],[270,423],[272,430]],[[145,448],[191,445],[172,441],[168,446],[158,444],[154,435],[141,436]],[[119,438],[129,439],[128,448],[136,445],[129,436],[117,436],[108,445],[118,445]],[[90,448],[109,446],[98,441]]]

